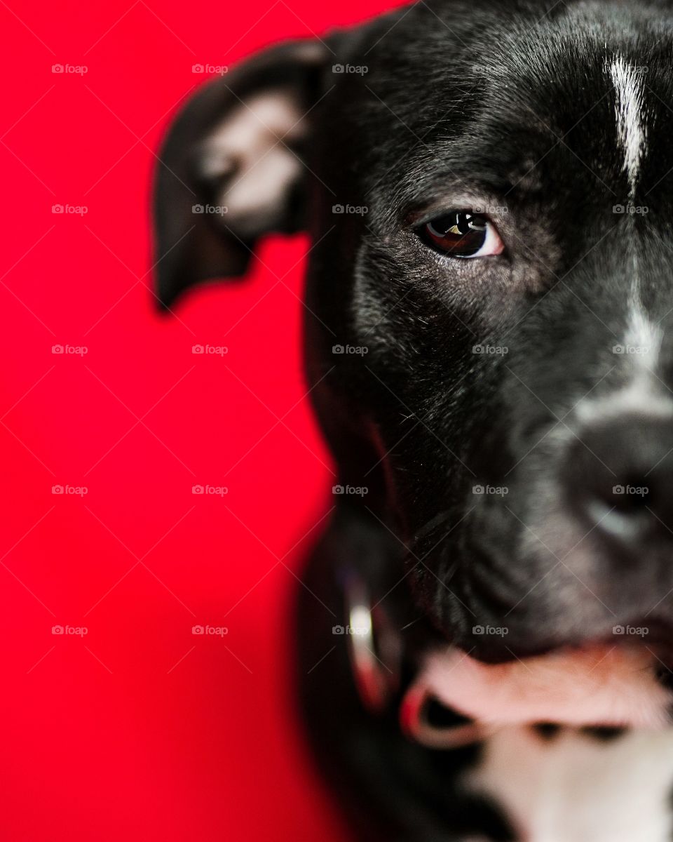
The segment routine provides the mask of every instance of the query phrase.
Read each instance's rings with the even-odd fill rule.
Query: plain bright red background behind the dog
[[[160,317],[148,205],[194,63],[389,5],[0,3],[3,839],[345,838],[290,678],[332,476],[299,358],[305,238]]]

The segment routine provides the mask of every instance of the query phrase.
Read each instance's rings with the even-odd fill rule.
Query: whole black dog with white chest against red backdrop
[[[339,486],[299,677],[358,839],[673,839],[671,24],[427,0],[263,52],[167,137],[166,306],[312,237]]]

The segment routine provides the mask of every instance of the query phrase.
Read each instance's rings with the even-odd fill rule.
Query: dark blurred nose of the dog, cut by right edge
[[[657,534],[673,541],[673,417],[593,423],[570,451],[565,487],[594,528],[624,544]]]

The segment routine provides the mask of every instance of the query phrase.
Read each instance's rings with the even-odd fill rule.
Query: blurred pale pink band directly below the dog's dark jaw
[[[612,640],[484,663],[448,647],[427,657],[418,683],[444,705],[492,727],[555,722],[659,729],[673,722],[661,654],[642,642]]]

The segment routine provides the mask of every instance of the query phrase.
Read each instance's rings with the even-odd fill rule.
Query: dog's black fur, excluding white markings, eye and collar
[[[346,637],[332,634],[347,623],[345,568],[404,630],[409,672],[437,641],[500,662],[606,637],[653,605],[649,626],[668,642],[671,425],[646,407],[589,424],[576,404],[633,375],[613,347],[636,272],[664,336],[658,388],[673,385],[671,23],[664,2],[428,0],[265,51],[201,91],[167,137],[156,191],[166,306],[199,280],[243,274],[266,232],[312,239],[310,396],[338,482],[368,493],[335,498],[305,570],[299,677],[316,755],[358,839],[515,836],[496,804],[455,785],[478,747],[409,742],[395,700],[364,711]],[[615,56],[644,74],[634,195],[606,69]],[[301,179],[257,213],[193,216],[241,175],[234,161],[204,176],[204,137],[278,90],[307,113],[282,141]],[[629,203],[648,212],[614,212]],[[476,205],[493,208],[503,254],[451,258],[417,236],[432,216]],[[612,507],[612,486],[646,474],[649,505],[619,509],[633,530],[604,528],[596,500]],[[478,625],[509,633],[475,635]]]

